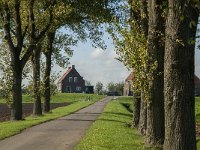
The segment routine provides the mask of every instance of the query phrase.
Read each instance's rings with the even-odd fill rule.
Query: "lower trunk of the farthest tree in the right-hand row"
[[[132,127],[138,127],[139,125],[139,120],[140,120],[140,103],[141,103],[141,98],[138,96],[138,94],[134,94],[133,96],[133,122],[132,122]]]

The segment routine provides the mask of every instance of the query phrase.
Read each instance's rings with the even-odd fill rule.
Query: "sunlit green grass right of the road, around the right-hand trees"
[[[128,125],[132,120],[132,98],[111,101],[75,150],[157,150],[145,147],[144,139]],[[196,120],[200,123],[200,98],[196,98]],[[200,137],[197,137],[199,139]],[[200,141],[197,142],[200,149]]]

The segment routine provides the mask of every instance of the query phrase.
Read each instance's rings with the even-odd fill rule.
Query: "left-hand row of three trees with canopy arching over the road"
[[[99,0],[1,0],[1,68],[4,85],[8,87],[11,119],[22,119],[22,79],[28,62],[32,66],[33,115],[50,110],[50,74],[52,61],[65,64],[68,60],[60,53],[71,53],[70,46],[77,40],[90,38],[93,44],[105,48],[101,41],[101,24],[112,18],[117,1]],[[95,9],[94,9],[95,8]],[[65,28],[68,33],[59,33]],[[41,90],[41,56],[45,59]],[[27,67],[30,70],[30,66]],[[42,92],[42,93],[41,93]]]

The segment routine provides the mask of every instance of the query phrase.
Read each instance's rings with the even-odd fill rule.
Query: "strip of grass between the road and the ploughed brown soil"
[[[79,101],[73,103],[66,107],[60,107],[57,109],[52,110],[51,113],[44,114],[41,117],[27,117],[23,121],[15,121],[15,122],[2,122],[0,123],[0,140],[20,133],[22,130],[40,124],[42,122],[46,122],[49,120],[53,120],[62,116],[66,116],[70,113],[80,110],[86,106],[89,106],[96,102],[97,100],[93,101]]]

